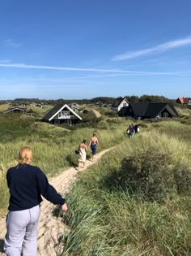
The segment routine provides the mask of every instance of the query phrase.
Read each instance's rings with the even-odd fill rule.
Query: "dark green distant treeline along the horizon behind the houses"
[[[175,100],[165,98],[163,96],[158,96],[158,95],[142,95],[141,97],[132,95],[132,96],[125,96],[129,102],[175,102]],[[48,104],[48,105],[56,105],[58,103],[77,103],[77,104],[113,104],[117,98],[111,98],[111,97],[97,97],[97,98],[91,98],[91,99],[64,99],[64,98],[59,98],[57,100],[46,100],[46,99],[39,99],[39,98],[15,98],[15,100],[6,100],[6,101],[1,101],[0,104],[5,104],[5,103],[12,103],[12,104],[31,104],[32,102],[35,102],[37,104]]]

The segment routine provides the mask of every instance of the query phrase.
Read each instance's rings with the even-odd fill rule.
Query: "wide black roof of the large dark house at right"
[[[172,116],[178,113],[171,102],[132,102],[129,106],[124,106],[119,111],[119,115],[125,115],[132,108],[135,116],[155,118],[164,108],[167,108]]]

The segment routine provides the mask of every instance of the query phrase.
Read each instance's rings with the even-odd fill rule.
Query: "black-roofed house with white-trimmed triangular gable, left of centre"
[[[78,124],[82,118],[76,113],[76,109],[67,104],[57,104],[53,106],[42,119],[50,124]]]

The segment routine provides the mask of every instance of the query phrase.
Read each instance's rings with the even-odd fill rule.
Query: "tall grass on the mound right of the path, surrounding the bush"
[[[69,212],[63,218],[68,232],[63,236],[63,255],[191,254],[190,192],[174,189],[172,193],[165,193],[163,201],[158,201],[142,197],[137,191],[132,193],[128,184],[123,186],[125,176],[131,171],[123,168],[124,159],[134,158],[136,163],[138,155],[142,158],[146,150],[154,156],[155,152],[162,152],[173,160],[166,166],[171,171],[169,176],[176,175],[178,164],[190,179],[190,148],[183,142],[151,129],[117,146],[104,155],[100,163],[80,174],[66,196]],[[143,159],[146,161],[145,156]],[[151,162],[149,177],[162,186],[164,172],[158,171],[158,176],[152,176],[152,171],[158,168],[155,161],[163,169],[163,159],[148,155],[147,161]],[[176,181],[173,180],[174,184]],[[181,181],[182,184],[188,182],[187,179]]]

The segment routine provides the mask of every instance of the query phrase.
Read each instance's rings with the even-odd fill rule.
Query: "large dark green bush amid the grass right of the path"
[[[128,190],[146,200],[161,201],[175,193],[190,194],[191,169],[180,160],[176,163],[169,152],[150,148],[123,158],[121,168],[113,171],[104,184],[110,190]]]

